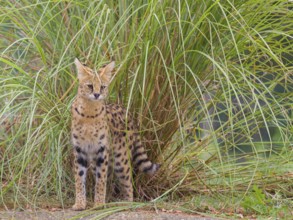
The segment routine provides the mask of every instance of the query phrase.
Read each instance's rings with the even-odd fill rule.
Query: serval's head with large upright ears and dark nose
[[[115,62],[109,63],[97,72],[79,62],[77,58],[75,58],[74,63],[79,80],[78,95],[93,101],[105,99],[108,96],[108,86]]]

